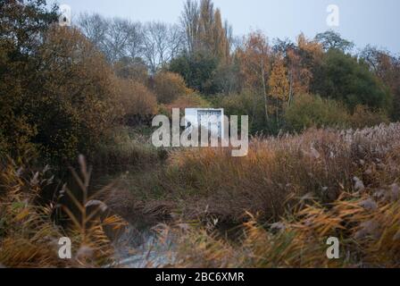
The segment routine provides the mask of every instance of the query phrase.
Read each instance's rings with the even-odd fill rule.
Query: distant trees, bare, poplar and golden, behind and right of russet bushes
[[[187,0],[175,25],[87,14],[78,22],[114,66],[126,71],[142,64],[150,77],[177,73],[211,105],[250,115],[254,132],[363,127],[400,116],[399,57],[374,46],[352,54],[354,44],[334,31],[301,34],[296,42],[271,42],[261,31],[233,37],[211,0]],[[312,108],[304,110],[304,102]],[[337,112],[346,116],[337,121]]]

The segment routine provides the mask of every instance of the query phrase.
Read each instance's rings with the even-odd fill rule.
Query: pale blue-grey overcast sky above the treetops
[[[50,2],[54,2],[51,0]],[[132,21],[177,22],[184,0],[57,0],[71,6],[72,19],[79,13],[100,13]],[[235,35],[261,29],[269,38],[307,37],[331,29],[326,19],[329,4],[339,8],[334,28],[357,47],[387,47],[400,54],[400,0],[214,0]]]

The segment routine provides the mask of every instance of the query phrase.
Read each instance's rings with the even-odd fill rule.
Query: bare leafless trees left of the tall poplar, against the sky
[[[132,22],[121,18],[105,19],[87,13],[79,16],[79,28],[89,41],[106,55],[110,63],[145,60],[152,73],[182,50],[183,34],[177,25],[160,21]]]

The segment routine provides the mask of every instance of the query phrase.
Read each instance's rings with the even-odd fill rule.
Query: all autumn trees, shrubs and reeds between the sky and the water
[[[400,266],[398,55],[333,30],[235,38],[212,0],[187,0],[179,24],[57,18],[46,0],[0,2],[0,267],[118,265],[107,226],[125,222],[92,196],[79,154],[136,167],[102,196],[169,223],[154,241],[172,242],[173,266]],[[196,107],[248,115],[248,155],[151,144],[154,115]],[[78,188],[54,182],[77,156]]]

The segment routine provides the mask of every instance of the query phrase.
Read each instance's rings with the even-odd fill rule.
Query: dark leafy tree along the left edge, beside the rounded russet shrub
[[[43,33],[57,20],[55,7],[44,1],[0,4],[0,156],[23,155],[34,149],[37,128],[30,115],[39,97],[37,48]],[[40,93],[41,95],[41,93]]]

